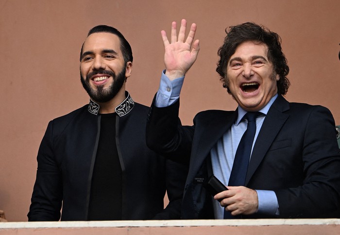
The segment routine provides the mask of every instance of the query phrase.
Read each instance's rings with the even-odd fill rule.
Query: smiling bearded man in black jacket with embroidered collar
[[[149,108],[125,91],[132,62],[118,30],[99,25],[89,31],[80,75],[90,102],[49,123],[29,221],[180,219],[187,167],[146,146]]]

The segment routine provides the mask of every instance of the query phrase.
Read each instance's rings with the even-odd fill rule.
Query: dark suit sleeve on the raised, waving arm
[[[150,149],[171,160],[188,164],[194,133],[193,126],[183,126],[178,118],[179,100],[165,108],[150,108],[146,142]]]

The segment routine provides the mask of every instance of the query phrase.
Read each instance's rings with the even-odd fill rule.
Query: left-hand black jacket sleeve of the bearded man
[[[37,162],[36,180],[33,188],[29,221],[58,221],[63,198],[61,171],[53,155],[53,121],[47,127],[41,141]]]

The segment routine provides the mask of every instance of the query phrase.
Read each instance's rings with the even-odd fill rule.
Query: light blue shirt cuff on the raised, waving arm
[[[175,103],[179,99],[183,82],[184,77],[171,81],[165,75],[165,70],[163,70],[154,105],[158,108],[163,108]]]

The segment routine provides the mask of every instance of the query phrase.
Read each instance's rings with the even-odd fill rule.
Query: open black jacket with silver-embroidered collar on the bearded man
[[[122,170],[122,219],[180,219],[187,167],[146,146],[149,107],[126,99],[116,108],[116,144]],[[101,115],[90,104],[52,120],[40,144],[29,221],[86,220]],[[164,208],[166,190],[170,204]],[[138,200],[137,204],[131,203]]]

